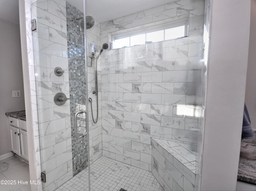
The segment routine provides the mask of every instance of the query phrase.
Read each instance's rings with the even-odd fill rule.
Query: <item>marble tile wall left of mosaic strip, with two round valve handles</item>
[[[38,117],[33,116],[33,121],[40,141],[36,150],[37,173],[39,176],[41,171],[46,173],[47,181],[42,186],[52,191],[73,177],[70,100],[63,106],[53,102],[54,95],[59,92],[70,98],[66,1],[37,0],[32,5],[28,3],[27,10],[29,8],[37,22],[37,30],[31,32],[30,38],[34,50],[31,52],[34,54],[34,63],[31,63],[34,73],[30,75],[35,76],[36,83],[32,110]],[[61,77],[54,74],[57,66],[64,69]]]

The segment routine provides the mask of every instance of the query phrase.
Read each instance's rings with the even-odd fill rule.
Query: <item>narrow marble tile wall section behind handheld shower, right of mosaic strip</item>
[[[97,61],[97,73],[98,73],[98,121],[95,124],[92,121],[92,110],[94,120],[97,116],[97,104],[96,104],[96,95],[92,94],[92,91],[95,91],[95,60],[89,57],[92,57],[92,52],[98,53],[102,48],[100,44],[100,23],[95,20],[94,26],[86,30],[86,52],[87,52],[87,63],[91,66],[87,66],[87,78],[88,78],[88,98],[92,98],[92,109],[90,102],[88,102],[88,121],[89,121],[89,146],[90,146],[90,162],[96,161],[102,156],[102,118],[101,118],[101,75],[100,75],[100,60],[99,57]]]

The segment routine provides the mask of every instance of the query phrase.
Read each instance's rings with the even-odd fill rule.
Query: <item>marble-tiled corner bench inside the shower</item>
[[[165,191],[196,190],[196,146],[151,138],[152,174]]]

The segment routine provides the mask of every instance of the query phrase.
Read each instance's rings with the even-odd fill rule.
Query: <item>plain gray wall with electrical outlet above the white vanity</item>
[[[25,109],[20,26],[0,19],[0,156],[10,152],[8,120],[5,112]],[[12,90],[21,97],[12,98]]]

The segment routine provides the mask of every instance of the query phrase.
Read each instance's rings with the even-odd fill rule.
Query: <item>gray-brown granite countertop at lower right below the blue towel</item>
[[[256,144],[241,142],[237,179],[256,184]]]

